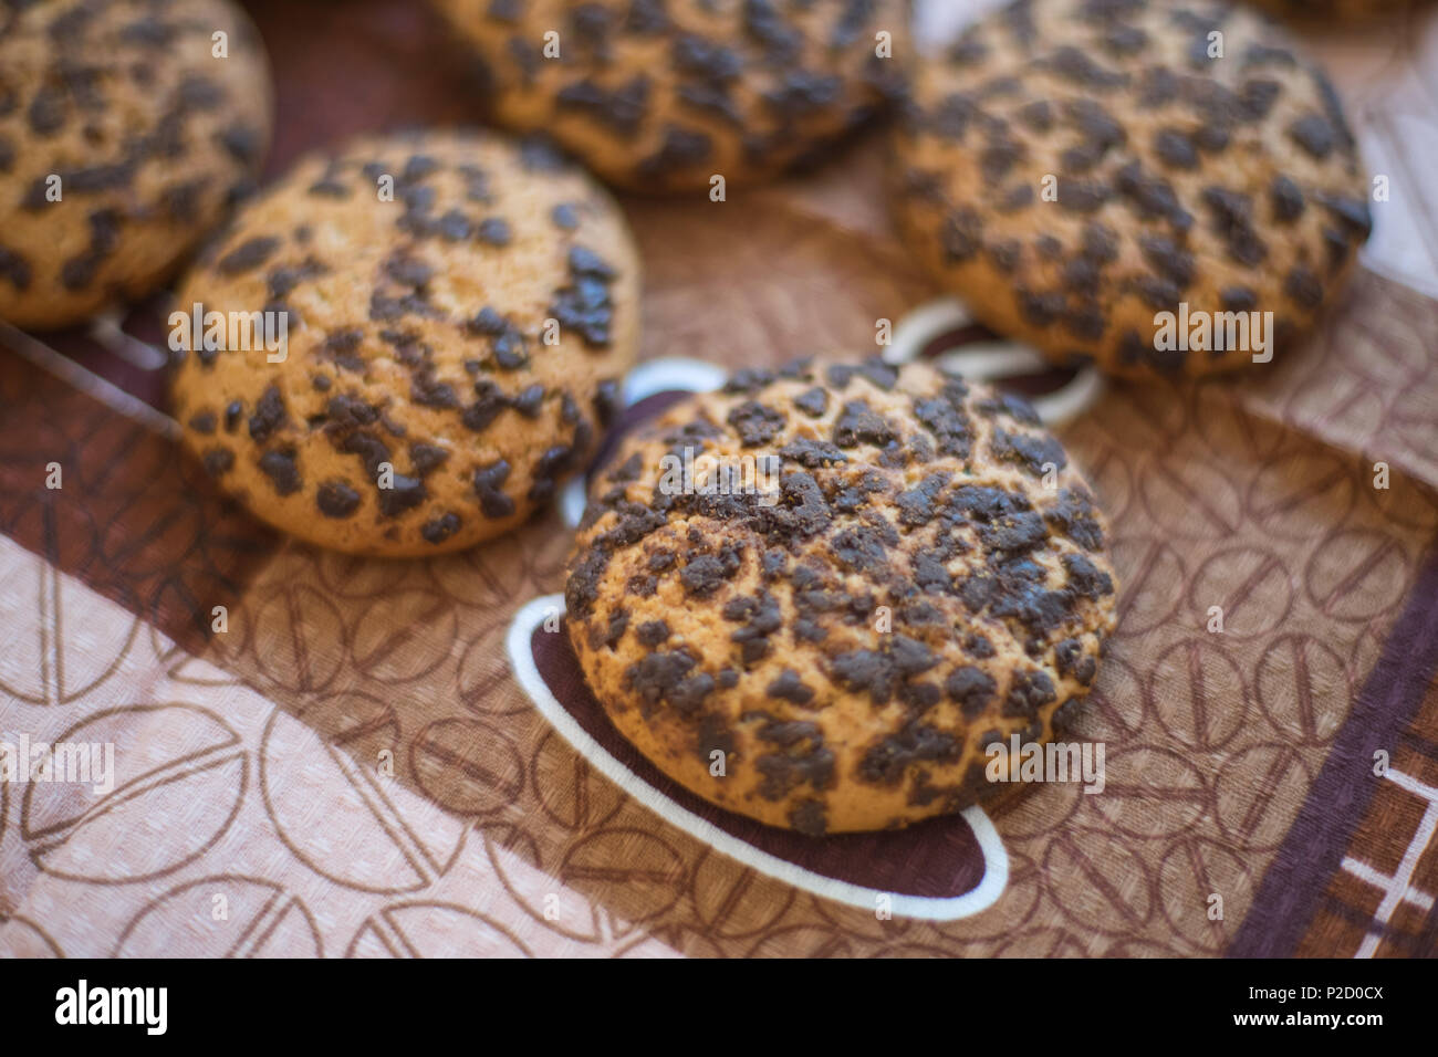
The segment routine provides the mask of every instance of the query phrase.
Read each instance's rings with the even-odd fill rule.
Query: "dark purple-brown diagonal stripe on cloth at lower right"
[[[1429,551],[1408,605],[1383,643],[1299,818],[1264,874],[1228,958],[1290,958],[1379,782],[1373,754],[1393,754],[1438,672],[1438,551]]]

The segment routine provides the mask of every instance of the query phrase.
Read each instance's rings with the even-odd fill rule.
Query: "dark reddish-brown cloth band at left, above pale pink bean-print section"
[[[3,348],[0,532],[191,653],[278,542],[173,441]]]

